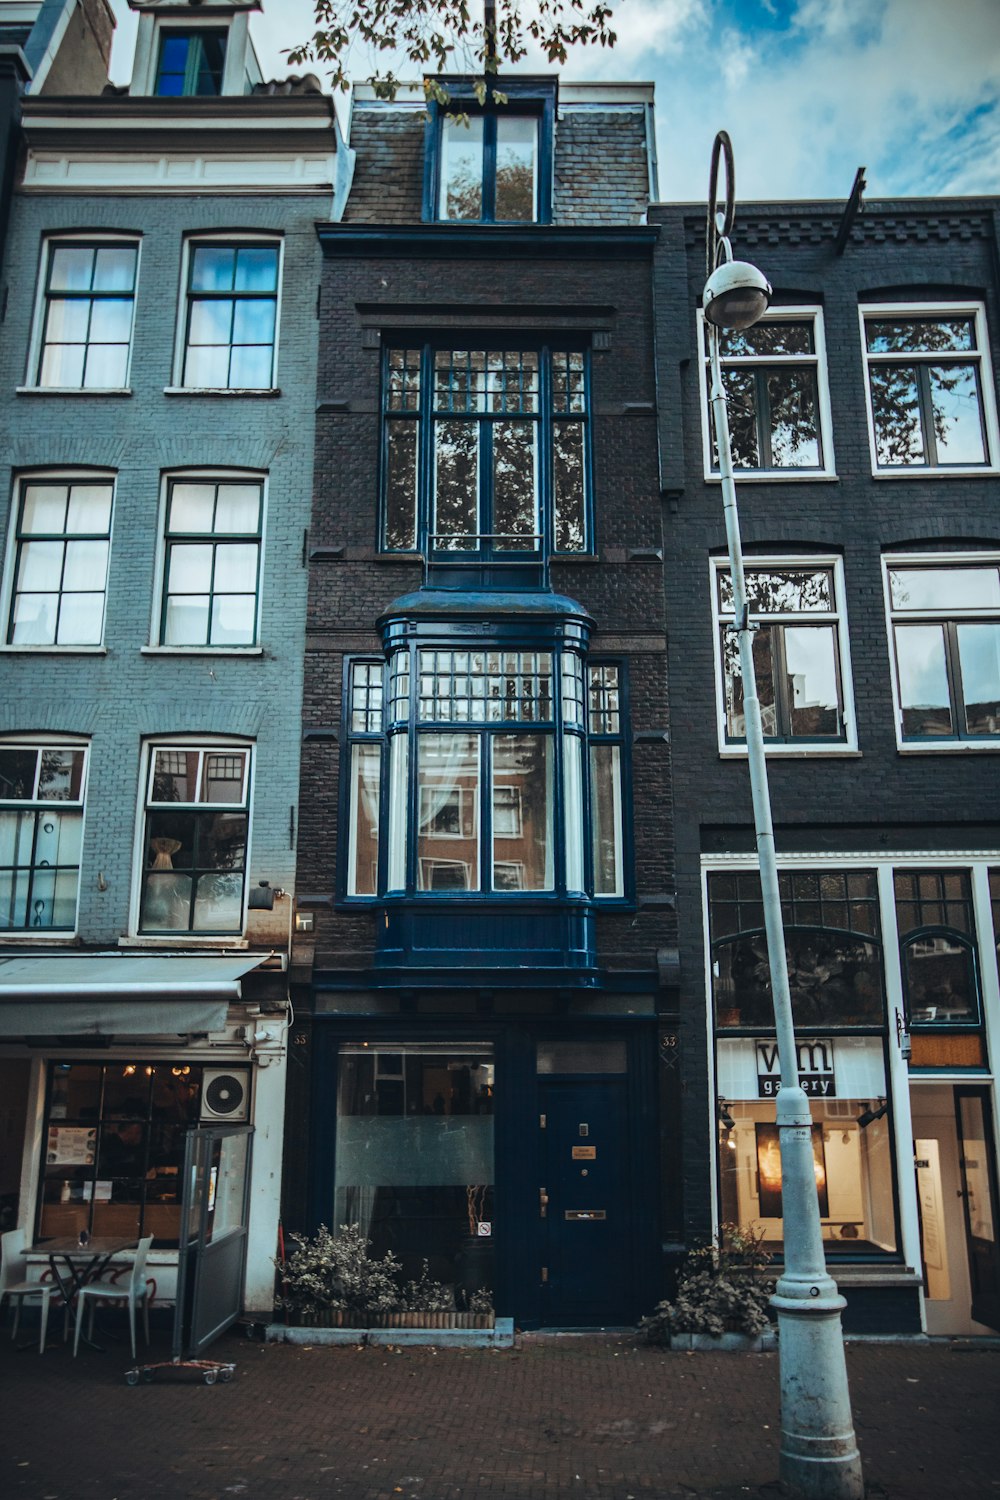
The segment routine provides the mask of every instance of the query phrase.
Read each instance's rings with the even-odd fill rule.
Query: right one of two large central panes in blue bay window
[[[493,888],[552,891],[553,790],[550,735],[493,740]]]

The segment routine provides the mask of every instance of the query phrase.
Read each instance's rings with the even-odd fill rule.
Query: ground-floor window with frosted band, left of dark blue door
[[[357,1224],[403,1278],[426,1260],[457,1305],[492,1287],[493,1090],[487,1044],[340,1048],[334,1233]]]

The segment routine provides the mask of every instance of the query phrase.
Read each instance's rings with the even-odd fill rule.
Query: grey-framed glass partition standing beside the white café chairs
[[[198,1359],[243,1311],[252,1125],[187,1132],[174,1359]]]

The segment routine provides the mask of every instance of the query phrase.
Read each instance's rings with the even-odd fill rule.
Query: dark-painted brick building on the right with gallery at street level
[[[780,1250],[703,214],[651,222],[684,1224],[753,1220]],[[733,252],[775,296],[721,351],[801,1070],[846,1326],[970,1334],[1000,1326],[1000,219],[996,200],[870,202],[837,254],[840,222],[738,212]]]

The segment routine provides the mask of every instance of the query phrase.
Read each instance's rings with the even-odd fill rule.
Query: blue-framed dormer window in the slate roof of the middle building
[[[504,84],[478,104],[450,82],[447,108],[432,104],[424,150],[424,220],[549,224],[555,82]]]

